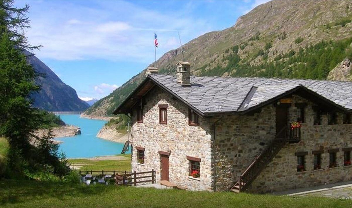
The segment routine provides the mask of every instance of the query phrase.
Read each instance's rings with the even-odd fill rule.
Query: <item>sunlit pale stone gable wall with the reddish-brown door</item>
[[[211,124],[199,117],[199,126],[188,125],[188,107],[170,94],[154,87],[143,100],[143,123],[132,115],[133,147],[145,148],[144,164],[137,163],[133,148],[132,171],[156,170],[156,182],[161,176],[161,157],[158,151],[170,152],[169,181],[187,186],[189,190],[212,190]],[[167,124],[159,124],[159,104],[168,104]],[[201,158],[200,177],[189,178],[187,156]]]

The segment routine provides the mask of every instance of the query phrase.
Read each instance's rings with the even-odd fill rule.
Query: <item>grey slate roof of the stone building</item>
[[[302,86],[352,110],[352,82],[347,81],[191,76],[191,85],[182,86],[176,75],[150,74],[149,78],[202,114],[245,111]]]

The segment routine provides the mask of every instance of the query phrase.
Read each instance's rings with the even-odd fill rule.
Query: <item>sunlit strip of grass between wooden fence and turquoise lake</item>
[[[89,160],[89,159],[69,159],[71,165],[79,167],[81,171],[131,171],[131,154],[119,155],[122,160]],[[82,167],[80,167],[82,166]]]

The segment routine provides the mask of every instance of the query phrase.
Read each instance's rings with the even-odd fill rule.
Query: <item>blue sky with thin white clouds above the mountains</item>
[[[81,99],[102,98],[171,49],[269,0],[16,0],[30,6],[33,51]]]

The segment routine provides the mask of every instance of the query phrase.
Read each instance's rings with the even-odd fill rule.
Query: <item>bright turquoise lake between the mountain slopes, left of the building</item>
[[[59,145],[59,153],[63,151],[67,158],[88,158],[121,153],[123,143],[96,137],[106,121],[80,118],[80,115],[59,116],[65,123],[80,127],[82,132],[81,135],[55,138],[64,142]]]

